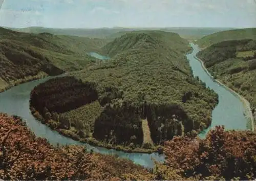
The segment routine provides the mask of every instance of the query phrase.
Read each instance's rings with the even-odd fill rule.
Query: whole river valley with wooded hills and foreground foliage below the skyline
[[[168,30],[100,39],[2,28],[0,178],[255,178],[245,106],[218,82],[253,113],[255,39],[210,31],[198,33],[200,51],[193,32],[189,43]]]

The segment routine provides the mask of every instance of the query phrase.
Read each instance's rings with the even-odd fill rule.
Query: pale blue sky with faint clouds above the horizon
[[[0,26],[256,27],[256,0],[0,0]]]

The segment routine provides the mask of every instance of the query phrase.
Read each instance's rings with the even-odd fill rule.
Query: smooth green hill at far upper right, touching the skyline
[[[200,47],[207,47],[226,40],[240,40],[240,39],[256,39],[256,28],[245,28],[221,31],[214,34],[204,36],[197,40]]]

